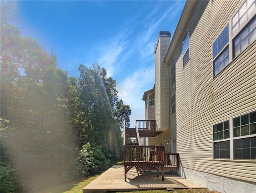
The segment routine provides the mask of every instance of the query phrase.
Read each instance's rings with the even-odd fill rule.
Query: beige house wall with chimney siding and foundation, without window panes
[[[155,115],[157,124],[164,129],[163,134],[151,137],[149,143],[165,145],[166,153],[170,153],[174,147],[172,141],[177,141],[179,174],[219,192],[253,192],[256,189],[256,159],[234,158],[234,141],[238,139],[234,136],[234,118],[256,111],[255,39],[238,56],[233,56],[234,37],[237,34],[232,37],[232,18],[244,2],[187,1],[162,66],[159,38],[155,50]],[[255,0],[251,2],[256,4]],[[250,14],[246,25],[254,21],[255,17],[255,13]],[[213,44],[227,25],[228,44],[220,53],[227,48],[229,62],[214,75],[213,60],[216,58],[213,59]],[[190,36],[190,59],[183,65],[182,41],[187,31]],[[173,58],[176,61],[176,81],[171,86],[170,68]],[[161,68],[168,72],[168,78]],[[168,88],[162,78],[168,81]],[[176,112],[172,113],[170,98],[174,94]],[[168,106],[168,129],[163,127],[161,121],[165,119],[162,105]],[[216,139],[213,138],[213,128],[224,121],[229,121],[229,137],[221,140],[228,141],[230,147],[227,152],[230,157],[214,158]],[[255,137],[253,131],[241,134],[239,139],[254,140]],[[253,148],[251,155],[255,153]]]

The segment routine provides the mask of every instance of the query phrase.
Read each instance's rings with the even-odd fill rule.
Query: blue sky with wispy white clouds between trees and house
[[[18,1],[22,34],[57,55],[58,67],[98,63],[116,80],[134,120],[145,119],[142,96],[154,86],[154,48],[160,31],[174,34],[185,1]]]

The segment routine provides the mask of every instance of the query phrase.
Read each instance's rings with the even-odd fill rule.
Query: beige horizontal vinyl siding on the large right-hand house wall
[[[195,7],[187,23],[190,60],[184,68],[181,47],[174,45],[179,50],[174,54],[177,153],[182,167],[256,182],[256,161],[213,160],[212,155],[212,125],[256,109],[256,42],[213,78],[212,43],[242,1],[198,4],[203,8]],[[172,123],[170,115],[170,129]]]

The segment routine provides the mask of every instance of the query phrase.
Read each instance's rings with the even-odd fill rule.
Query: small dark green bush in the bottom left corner
[[[19,192],[19,177],[17,169],[14,169],[8,162],[1,162],[1,193]]]

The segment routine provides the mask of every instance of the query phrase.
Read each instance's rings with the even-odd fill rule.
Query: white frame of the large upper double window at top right
[[[222,34],[222,31],[225,29],[225,27],[228,25],[228,44],[226,44],[223,49],[218,52],[218,54],[213,57],[213,49],[212,49],[212,76],[213,78],[216,77],[218,74],[221,74],[221,72],[224,71],[224,69],[235,59],[237,58],[244,50],[246,50],[246,48],[248,46],[250,46],[252,44],[252,42],[250,42],[247,46],[245,46],[242,51],[237,54],[234,57],[234,39],[240,35],[240,33],[244,30],[244,28],[246,28],[248,26],[248,24],[250,24],[250,22],[254,19],[254,17],[256,17],[256,11],[252,11],[250,12],[250,14],[248,13],[248,9],[244,12],[244,14],[247,14],[246,20],[238,27],[238,30],[236,30],[235,32],[232,32],[232,27],[234,26],[234,18],[238,17],[238,22],[239,22],[239,12],[240,10],[242,10],[244,8],[244,5],[250,6],[250,9],[252,8],[252,5],[256,6],[256,0],[245,0],[244,3],[238,8],[238,10],[234,13],[234,15],[232,16],[232,18],[229,20],[229,22],[227,24],[225,24],[224,28],[222,28],[220,34],[218,34],[218,36],[216,37],[216,39],[214,40],[214,42],[218,39],[218,37]],[[247,7],[246,7],[247,8]],[[253,7],[254,8],[254,7]],[[244,15],[243,14],[243,15]],[[255,40],[253,40],[254,42]],[[214,42],[212,43],[212,45],[214,44]],[[217,74],[215,74],[215,69],[214,69],[214,61],[216,59],[218,59],[218,57],[222,54],[222,52],[228,48],[228,58],[229,58],[229,62],[228,64],[226,64],[224,66],[224,68],[222,68]]]

